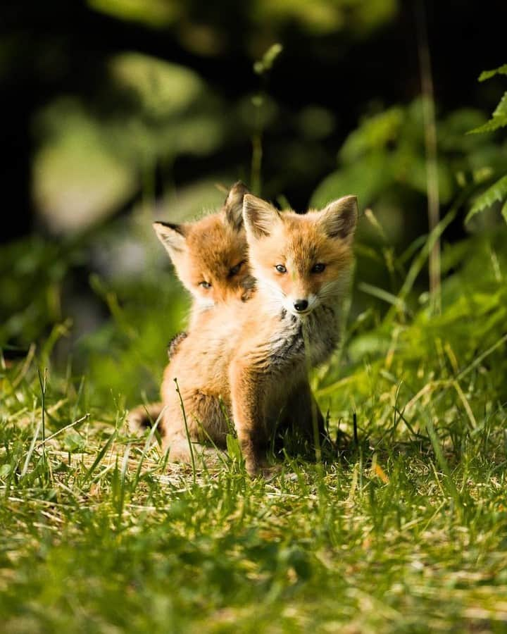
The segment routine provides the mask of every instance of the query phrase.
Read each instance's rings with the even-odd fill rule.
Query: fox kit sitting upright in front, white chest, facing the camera
[[[170,460],[190,461],[191,452],[211,452],[206,439],[225,446],[232,418],[254,475],[286,404],[283,416],[312,434],[307,369],[338,341],[357,201],[347,196],[298,215],[246,194],[243,217],[256,294],[211,311],[181,342],[165,368],[161,434]]]

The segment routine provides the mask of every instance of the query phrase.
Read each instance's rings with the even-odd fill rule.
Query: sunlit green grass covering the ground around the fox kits
[[[4,361],[2,630],[506,632],[505,240],[444,253],[442,314],[406,289],[349,319],[313,377],[342,455],[287,459],[269,481],[234,459],[194,479],[127,435],[142,386],[131,368],[126,397],[107,394],[113,359],[160,372],[165,343],[159,360],[142,343],[133,300],[108,294],[116,328],[89,344],[84,380],[45,375],[47,356]]]

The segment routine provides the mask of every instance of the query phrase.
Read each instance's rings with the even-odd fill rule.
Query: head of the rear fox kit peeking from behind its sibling
[[[194,223],[154,223],[178,277],[201,308],[245,299],[253,286],[242,217],[246,192],[237,182],[218,213]]]

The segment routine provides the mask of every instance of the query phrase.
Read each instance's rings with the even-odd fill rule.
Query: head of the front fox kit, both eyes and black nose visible
[[[352,263],[357,199],[346,196],[322,211],[280,213],[251,194],[243,215],[251,271],[273,310],[307,316],[346,290]]]

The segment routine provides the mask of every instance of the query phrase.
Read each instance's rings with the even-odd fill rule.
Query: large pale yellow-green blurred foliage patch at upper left
[[[83,230],[111,215],[180,154],[208,155],[225,121],[191,70],[134,53],[111,59],[108,90],[123,107],[91,111],[72,97],[39,113],[44,139],[34,159],[35,200],[55,232]],[[149,192],[148,194],[152,194]]]

